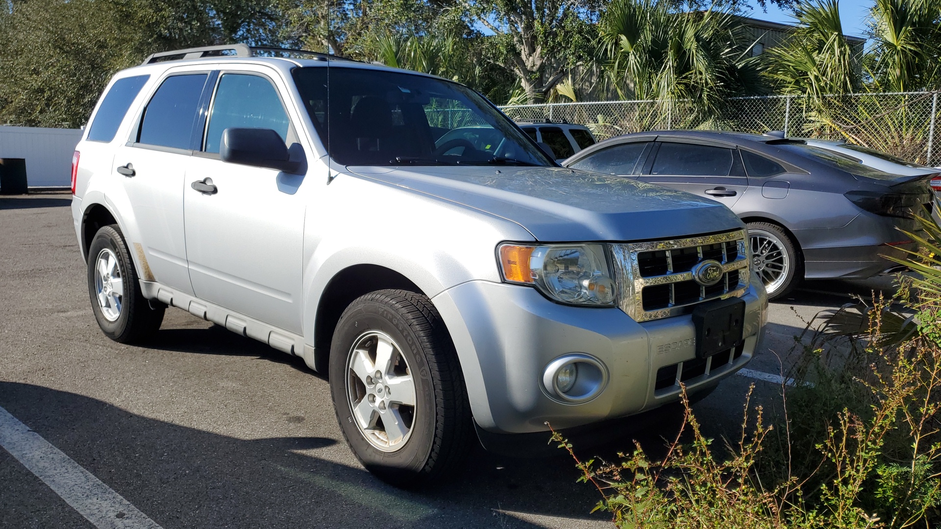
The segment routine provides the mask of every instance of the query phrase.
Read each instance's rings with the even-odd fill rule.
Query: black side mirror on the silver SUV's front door
[[[230,164],[297,173],[304,165],[303,150],[299,149],[300,145],[291,147],[295,151],[294,159],[275,131],[231,127],[222,131],[219,157]]]

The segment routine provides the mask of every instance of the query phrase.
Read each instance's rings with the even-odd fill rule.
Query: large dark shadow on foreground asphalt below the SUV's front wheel
[[[328,461],[319,437],[241,440],[130,413],[41,386],[0,382],[0,406],[163,527],[538,527],[513,512],[594,518],[576,473],[500,468],[473,453],[476,472],[434,490],[392,488]],[[512,491],[513,497],[507,495]],[[590,492],[590,491],[589,491]],[[0,518],[25,527],[30,507],[0,484]],[[601,517],[599,520],[604,520]]]

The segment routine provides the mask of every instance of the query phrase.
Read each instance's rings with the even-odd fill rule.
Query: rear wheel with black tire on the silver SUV
[[[104,335],[121,344],[151,338],[164,321],[166,307],[152,309],[140,291],[137,270],[117,224],[104,226],[91,240],[88,296]]]

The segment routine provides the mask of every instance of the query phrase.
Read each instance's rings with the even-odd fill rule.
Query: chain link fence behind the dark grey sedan
[[[676,129],[726,130],[846,139],[925,165],[941,165],[939,92],[727,99],[704,111],[689,101],[612,101],[502,106],[512,120],[565,120],[588,126],[598,139]]]

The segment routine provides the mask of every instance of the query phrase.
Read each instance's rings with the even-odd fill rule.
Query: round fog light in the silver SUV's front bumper
[[[569,353],[549,362],[543,371],[543,389],[564,404],[582,404],[600,394],[608,382],[608,371],[598,359]]]

